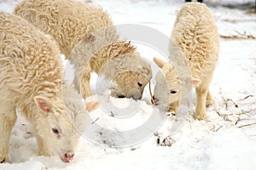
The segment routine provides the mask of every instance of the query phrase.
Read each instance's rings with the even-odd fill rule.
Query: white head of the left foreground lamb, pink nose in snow
[[[36,122],[38,154],[60,156],[70,162],[79,144],[79,132],[84,130],[86,111],[75,90],[63,88],[62,92],[60,98],[34,98],[40,111]]]

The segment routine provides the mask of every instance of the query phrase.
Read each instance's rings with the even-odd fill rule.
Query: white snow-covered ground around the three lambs
[[[12,12],[18,2],[0,1],[0,10]],[[183,1],[177,0],[93,0],[93,3],[107,9],[115,24],[149,26],[166,37],[170,36],[177,10],[183,5]],[[191,111],[195,106],[192,93],[189,98],[192,105],[182,105],[189,108],[188,114],[168,116],[160,128],[154,125],[155,128],[148,127],[147,132],[131,131],[128,137],[114,131],[142,127],[153,113],[159,113],[148,102],[147,87],[141,102],[110,99],[116,105],[116,111],[127,111],[122,109],[127,105],[131,106],[129,109],[135,109],[129,118],[117,121],[113,118],[117,113],[107,111],[108,107],[103,106],[91,112],[90,118],[94,122],[89,124],[90,134],[84,134],[75,160],[67,164],[56,156],[35,156],[37,144],[32,129],[19,116],[10,141],[11,163],[0,164],[0,169],[256,169],[254,1],[211,0],[206,3],[222,37],[211,85],[215,104],[207,109],[208,121],[192,118]],[[143,45],[138,45],[138,51],[149,60],[154,54],[158,55]],[[96,80],[96,76],[93,79]],[[104,97],[99,98],[102,105],[108,104]],[[133,105],[139,105],[138,109],[132,108]],[[113,115],[108,116],[107,112]],[[91,131],[96,124],[104,128]],[[125,147],[125,142],[132,141],[129,135],[137,134],[142,139]]]

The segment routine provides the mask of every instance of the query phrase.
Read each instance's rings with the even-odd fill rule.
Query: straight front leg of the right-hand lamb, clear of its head
[[[195,88],[195,92],[197,95],[195,118],[198,120],[207,119],[206,100],[207,100],[208,88],[206,88],[204,86],[200,86],[200,87]]]

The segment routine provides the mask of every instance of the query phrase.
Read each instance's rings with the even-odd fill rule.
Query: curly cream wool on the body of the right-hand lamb
[[[170,42],[170,59],[177,61],[177,46],[189,64],[192,77],[203,81],[212,74],[218,61],[218,31],[205,4],[186,3],[177,13]]]

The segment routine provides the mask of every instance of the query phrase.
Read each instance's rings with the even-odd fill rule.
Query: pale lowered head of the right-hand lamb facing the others
[[[181,98],[181,85],[177,71],[169,62],[154,58],[154,63],[160,67],[155,79],[154,105],[165,107]]]

